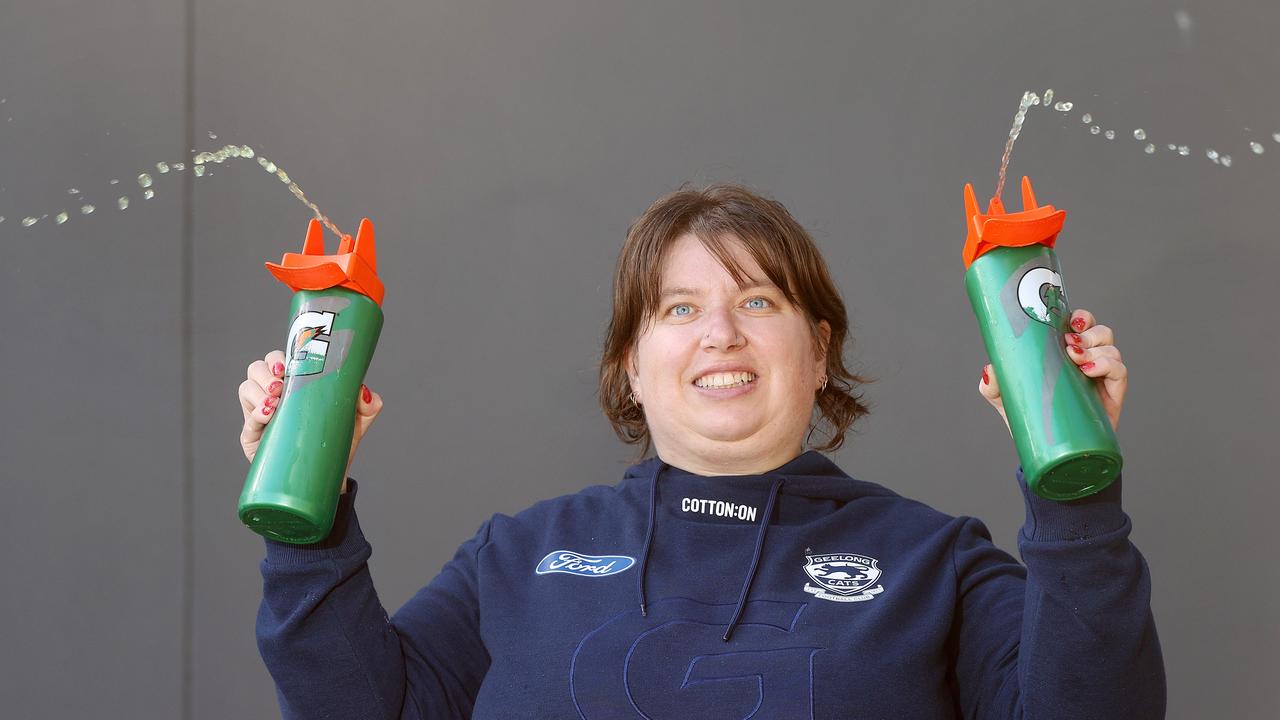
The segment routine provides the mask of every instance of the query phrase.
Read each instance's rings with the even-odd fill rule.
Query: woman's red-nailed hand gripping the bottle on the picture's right
[[[1120,351],[1116,348],[1116,337],[1111,328],[1100,325],[1088,310],[1075,310],[1071,313],[1071,328],[1075,332],[1066,333],[1062,343],[1066,345],[1066,356],[1070,357],[1080,372],[1093,378],[1093,387],[1098,391],[1102,407],[1111,420],[1111,429],[1120,427],[1120,406],[1124,405],[1124,391],[1129,386],[1129,369],[1120,361]],[[1009,418],[1005,415],[1005,401],[1000,397],[1000,383],[996,380],[996,370],[991,365],[982,369],[982,379],[978,380],[978,392],[987,398],[987,402],[1000,413],[1009,427]]]

